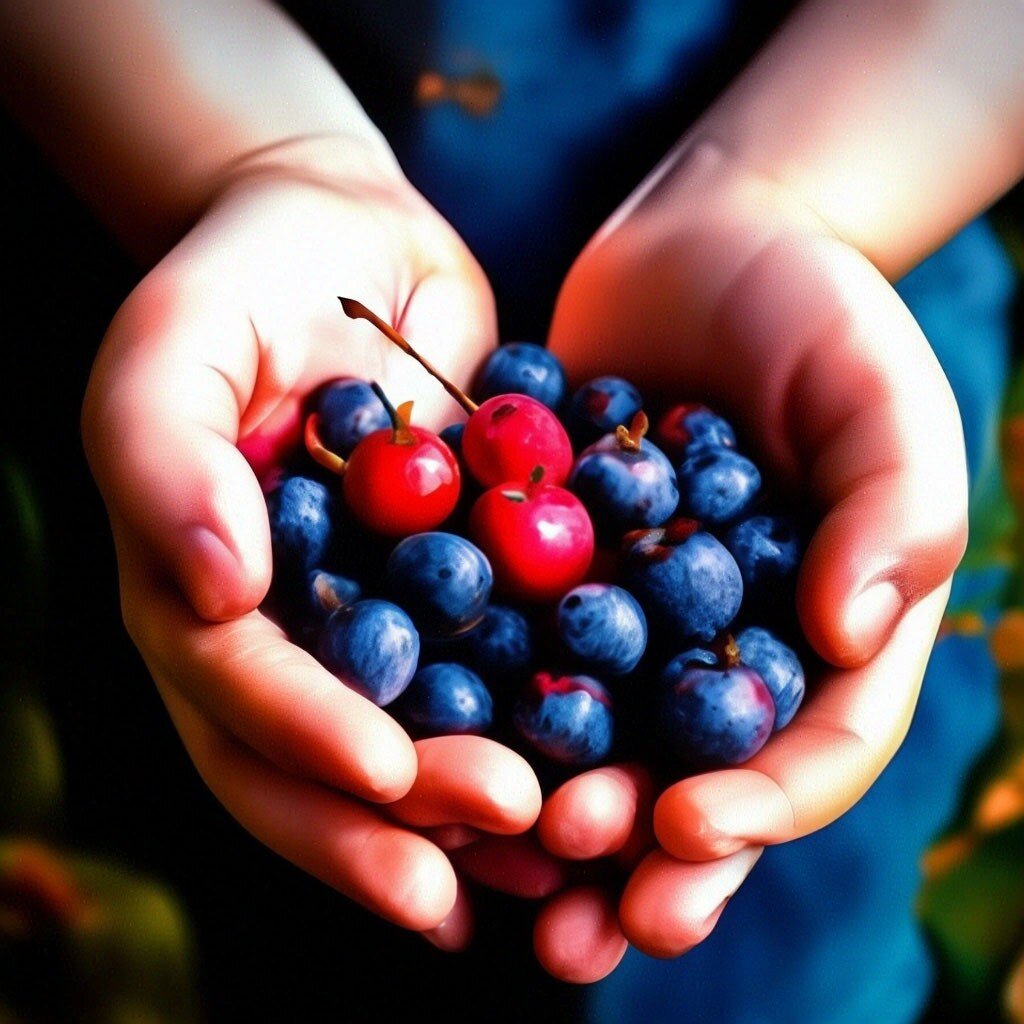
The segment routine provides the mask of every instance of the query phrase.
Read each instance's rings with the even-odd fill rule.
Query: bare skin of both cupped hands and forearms
[[[705,397],[822,511],[798,600],[837,668],[754,761],[660,797],[664,851],[645,852],[642,776],[609,787],[603,768],[550,799],[545,852],[534,837],[465,831],[495,815],[524,826],[536,794],[495,783],[453,805],[444,771],[417,775],[400,728],[254,610],[269,539],[237,442],[294,429],[298,398],[343,375],[417,398],[424,425],[451,422],[440,389],[340,317],[334,296],[358,296],[465,384],[495,340],[478,267],[268,4],[3,5],[7,102],[157,264],[104,340],[83,433],[129,632],[245,827],[447,949],[472,930],[453,860],[541,898],[569,878],[560,858],[626,836],[614,856],[638,866],[621,897],[568,890],[538,921],[542,962],[581,981],[611,970],[626,939],[689,948],[763,844],[862,795],[907,728],[965,541],[957,413],[887,279],[1021,173],[1022,32],[1015,0],[983,18],[972,0],[802,6],[570,271],[551,342],[577,385],[623,372],[629,352],[638,385]],[[207,45],[218,36],[252,45]],[[603,801],[587,799],[594,785]],[[365,802],[432,792],[463,819],[437,842]]]

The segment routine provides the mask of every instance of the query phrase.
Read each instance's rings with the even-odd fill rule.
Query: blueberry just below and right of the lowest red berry
[[[589,670],[625,676],[643,656],[647,620],[629,591],[586,583],[558,605],[558,634]]]

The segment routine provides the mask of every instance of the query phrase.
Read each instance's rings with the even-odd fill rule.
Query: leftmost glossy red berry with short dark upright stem
[[[342,485],[352,514],[386,537],[439,526],[459,501],[459,463],[452,450],[422,427],[407,439],[390,428],[368,434],[345,465]]]

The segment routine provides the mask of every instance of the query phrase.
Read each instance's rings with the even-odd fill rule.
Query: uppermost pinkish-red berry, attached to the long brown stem
[[[500,394],[470,416],[462,457],[484,487],[508,480],[523,484],[538,466],[554,485],[569,475],[572,444],[547,406],[524,394]]]

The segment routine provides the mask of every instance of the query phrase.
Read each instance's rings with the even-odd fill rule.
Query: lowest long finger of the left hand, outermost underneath
[[[373,808],[279,771],[173,685],[157,682],[203,779],[260,842],[402,928],[437,928],[451,914],[455,872],[432,843]]]

